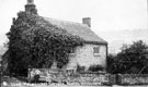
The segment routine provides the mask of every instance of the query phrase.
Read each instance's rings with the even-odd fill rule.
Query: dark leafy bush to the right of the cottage
[[[145,74],[148,73],[148,50],[141,40],[133,45],[123,45],[117,55],[107,57],[109,72],[121,74]]]

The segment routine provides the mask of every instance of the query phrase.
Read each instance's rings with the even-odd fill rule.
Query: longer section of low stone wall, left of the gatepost
[[[38,73],[39,71],[39,73]],[[39,74],[41,79],[46,82],[66,82],[69,85],[100,86],[114,84],[115,76],[105,73],[70,73],[49,69],[32,69],[29,77],[32,79]]]

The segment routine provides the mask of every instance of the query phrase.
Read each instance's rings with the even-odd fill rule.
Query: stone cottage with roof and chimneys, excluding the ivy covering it
[[[25,12],[37,13],[34,0],[27,0]],[[64,70],[76,71],[77,65],[84,66],[86,69],[89,69],[91,65],[101,65],[106,69],[107,42],[92,32],[90,17],[83,17],[82,23],[60,21],[50,17],[44,18],[48,23],[86,40],[84,46],[78,46],[71,49],[69,63],[62,67]],[[52,67],[56,67],[56,63]]]

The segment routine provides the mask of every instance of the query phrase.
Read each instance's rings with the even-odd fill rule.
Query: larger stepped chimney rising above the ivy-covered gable
[[[36,5],[34,4],[34,0],[27,0],[25,5],[25,12],[37,14]]]

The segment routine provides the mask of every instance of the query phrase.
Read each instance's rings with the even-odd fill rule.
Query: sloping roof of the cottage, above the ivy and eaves
[[[68,33],[72,35],[77,35],[80,38],[84,39],[86,42],[90,44],[107,44],[105,40],[103,40],[101,37],[99,37],[94,32],[91,30],[90,27],[88,27],[86,24],[75,23],[75,22],[68,22],[68,21],[60,21],[55,20],[50,17],[44,17],[47,22],[50,24],[60,27],[62,29],[66,29]]]

